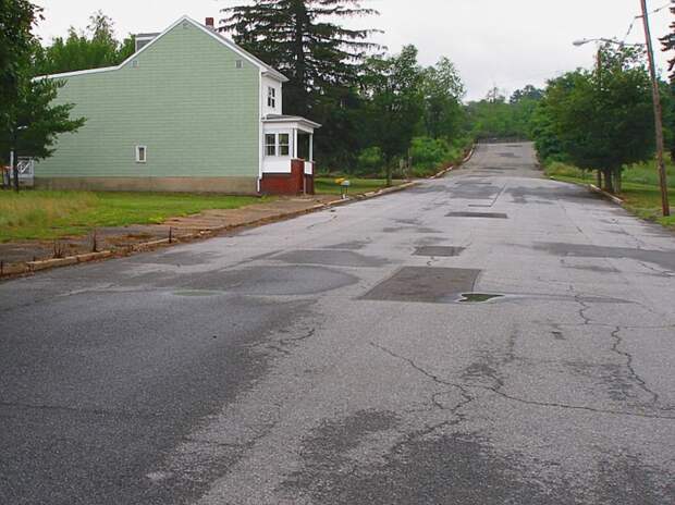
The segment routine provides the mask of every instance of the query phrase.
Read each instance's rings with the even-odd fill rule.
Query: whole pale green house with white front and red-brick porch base
[[[311,193],[314,132],[282,113],[287,78],[213,28],[181,17],[136,37],[119,66],[49,75],[85,126],[36,163],[53,189]]]

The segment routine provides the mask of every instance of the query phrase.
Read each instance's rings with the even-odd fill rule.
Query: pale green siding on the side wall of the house
[[[68,77],[59,100],[87,123],[36,176],[258,176],[257,66],[181,23],[124,67]],[[147,146],[136,163],[135,146]]]

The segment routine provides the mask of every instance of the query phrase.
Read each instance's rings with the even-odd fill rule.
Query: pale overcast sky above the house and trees
[[[101,9],[120,36],[161,32],[183,14],[198,21],[219,17],[219,10],[238,0],[34,0],[45,8],[39,35],[46,41],[70,26],[84,28]],[[395,52],[405,44],[419,48],[420,61],[432,64],[446,56],[467,86],[467,99],[482,98],[498,86],[510,94],[526,84],[542,86],[553,77],[593,62],[594,47],[575,48],[579,38],[623,39],[639,13],[639,0],[370,0],[379,17],[352,22],[385,33],[377,41]],[[667,0],[648,0],[651,9]],[[652,15],[654,38],[675,21],[667,9]],[[638,20],[627,39],[643,41]],[[667,57],[659,53],[665,67]]]

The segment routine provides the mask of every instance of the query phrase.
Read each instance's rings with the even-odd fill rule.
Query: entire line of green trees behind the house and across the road
[[[134,52],[102,12],[85,29],[42,46],[34,35],[41,11],[28,0],[0,0],[0,160],[44,158],[58,135],[86,121],[73,104],[54,104],[63,83],[37,75],[115,65]],[[621,187],[627,163],[653,152],[649,75],[639,49],[606,45],[601,65],[526,86],[499,88],[465,103],[465,86],[449,58],[419,63],[414,46],[388,53],[377,29],[346,21],[376,16],[358,0],[254,0],[223,10],[220,30],[284,73],[284,113],[323,124],[316,153],[323,171],[365,176],[427,175],[461,158],[475,139],[532,139],[542,161],[603,174]],[[664,45],[674,46],[675,37]],[[666,135],[673,145],[674,100],[662,85]]]

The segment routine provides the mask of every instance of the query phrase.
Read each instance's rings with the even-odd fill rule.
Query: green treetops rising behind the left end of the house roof
[[[65,39],[57,37],[44,49],[38,61],[38,74],[59,74],[78,70],[100,69],[122,63],[134,53],[134,38],[120,42],[114,24],[101,11],[89,17],[86,32],[71,27]]]

